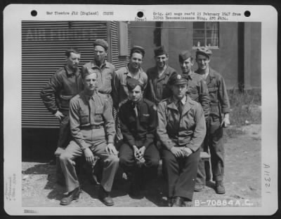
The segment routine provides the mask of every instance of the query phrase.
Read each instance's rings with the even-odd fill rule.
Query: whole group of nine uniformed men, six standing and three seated
[[[114,204],[110,192],[119,167],[131,182],[131,197],[140,197],[157,176],[159,160],[168,185],[167,205],[191,206],[193,192],[211,180],[202,151],[210,152],[216,193],[225,193],[222,137],[230,124],[230,104],[223,77],[209,66],[211,50],[197,48],[196,71],[190,51],[179,52],[178,73],[159,46],[155,66],[145,73],[141,46],[131,48],[129,64],[117,71],[106,61],[107,49],[103,39],[94,41],[93,60],[81,71],[79,50],[68,49],[65,66],[41,90],[46,108],[60,120],[56,174],[67,188],[60,204],[79,199],[75,159],[81,156],[90,165],[96,157],[102,162],[98,197],[107,206]]]

